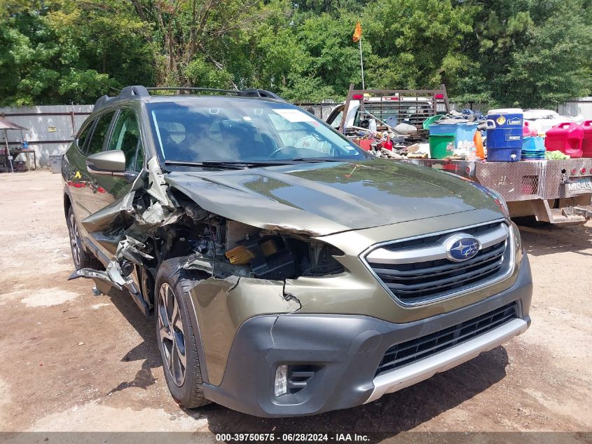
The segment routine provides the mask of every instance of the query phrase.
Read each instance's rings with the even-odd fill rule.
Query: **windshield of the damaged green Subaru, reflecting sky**
[[[212,99],[148,105],[156,149],[167,163],[367,157],[346,137],[294,105]]]

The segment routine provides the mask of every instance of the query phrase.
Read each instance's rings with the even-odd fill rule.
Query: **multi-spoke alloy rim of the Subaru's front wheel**
[[[158,336],[163,346],[165,366],[177,386],[185,381],[187,358],[185,330],[177,297],[170,285],[163,283],[158,292]]]

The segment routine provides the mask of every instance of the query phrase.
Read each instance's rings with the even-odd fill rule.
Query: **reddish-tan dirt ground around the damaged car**
[[[525,227],[532,327],[359,408],[260,419],[172,401],[153,319],[73,271],[60,175],[0,175],[0,431],[591,431],[592,223]]]

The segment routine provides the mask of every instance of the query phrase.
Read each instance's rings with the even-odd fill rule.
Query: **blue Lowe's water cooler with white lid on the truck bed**
[[[491,109],[487,113],[488,162],[516,162],[522,155],[521,108]]]

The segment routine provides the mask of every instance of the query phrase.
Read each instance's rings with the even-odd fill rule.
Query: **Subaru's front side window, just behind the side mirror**
[[[123,151],[126,170],[142,170],[144,166],[144,149],[139,137],[136,114],[132,109],[123,108],[119,112],[107,149],[121,149]]]

